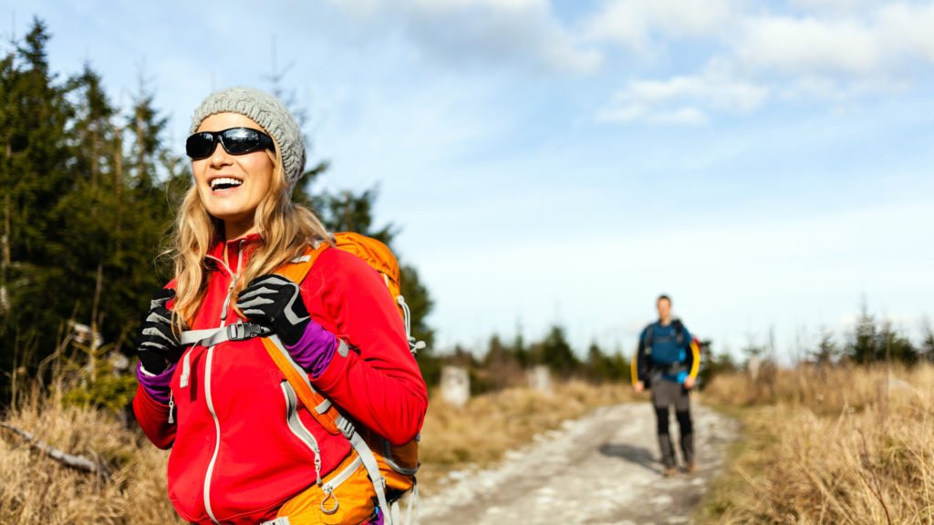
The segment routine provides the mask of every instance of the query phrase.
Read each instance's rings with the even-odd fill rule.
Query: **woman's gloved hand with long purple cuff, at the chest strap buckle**
[[[250,281],[236,305],[248,319],[271,328],[295,362],[320,376],[337,349],[337,337],[308,315],[297,284],[274,274]]]

